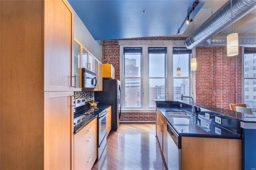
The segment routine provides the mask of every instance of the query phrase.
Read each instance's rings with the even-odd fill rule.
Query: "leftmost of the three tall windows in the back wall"
[[[140,108],[142,47],[124,48],[125,107]],[[134,71],[137,71],[134,76]]]

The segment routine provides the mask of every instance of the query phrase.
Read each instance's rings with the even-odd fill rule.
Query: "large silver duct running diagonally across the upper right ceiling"
[[[219,10],[217,10],[208,20],[206,20],[193,34],[185,40],[188,49],[193,49],[212,38],[228,26],[231,22],[231,10],[233,23],[246,16],[248,13],[256,9],[256,0],[233,0],[232,9],[229,0]]]

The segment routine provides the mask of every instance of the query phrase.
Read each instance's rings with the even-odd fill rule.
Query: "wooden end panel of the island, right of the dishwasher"
[[[241,140],[182,137],[182,170],[241,170]]]

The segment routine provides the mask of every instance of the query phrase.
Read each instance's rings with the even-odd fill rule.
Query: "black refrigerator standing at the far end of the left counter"
[[[117,130],[121,117],[121,82],[116,79],[103,79],[102,83],[103,90],[94,91],[94,101],[112,105],[111,130]]]

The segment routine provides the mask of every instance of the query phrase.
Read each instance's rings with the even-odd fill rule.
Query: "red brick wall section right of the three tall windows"
[[[242,102],[242,49],[228,57],[226,47],[197,47],[196,102],[229,109]],[[236,93],[237,92],[237,93]]]

